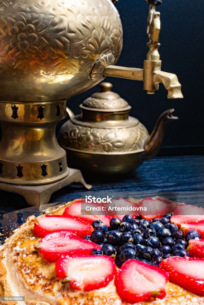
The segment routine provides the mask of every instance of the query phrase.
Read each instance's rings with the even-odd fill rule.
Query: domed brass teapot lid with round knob
[[[100,112],[121,112],[132,107],[119,94],[112,92],[113,85],[103,82],[100,84],[101,92],[96,92],[85,99],[80,105],[81,109]]]

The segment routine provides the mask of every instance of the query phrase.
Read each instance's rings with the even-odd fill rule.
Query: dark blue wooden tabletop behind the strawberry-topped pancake
[[[203,206],[204,156],[156,157],[124,176],[99,179],[87,173],[86,182],[93,185],[93,191],[129,192],[135,198],[165,192],[169,199],[176,200],[179,197],[185,203],[191,203],[193,198],[192,203],[195,204],[198,198],[198,204]],[[50,203],[80,198],[83,191],[85,188],[81,184],[73,183],[54,193]],[[189,196],[189,192],[194,193]],[[28,205],[21,196],[0,191],[0,214],[26,207]]]

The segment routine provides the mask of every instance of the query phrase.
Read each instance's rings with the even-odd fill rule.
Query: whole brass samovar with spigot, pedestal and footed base
[[[40,204],[73,181],[91,187],[79,170],[67,167],[55,127],[66,116],[66,100],[105,76],[141,80],[148,94],[163,83],[168,98],[182,97],[176,75],[161,71],[155,11],[161,0],[147,3],[150,50],[137,69],[114,66],[122,25],[110,0],[0,2],[1,189]]]

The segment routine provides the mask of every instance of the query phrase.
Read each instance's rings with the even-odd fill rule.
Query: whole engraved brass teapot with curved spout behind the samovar
[[[131,106],[111,83],[102,83],[81,105],[81,114],[72,117],[60,130],[59,144],[67,152],[68,166],[82,173],[123,174],[159,152],[165,124],[178,119],[169,109],[158,118],[149,135],[138,119],[129,116]]]

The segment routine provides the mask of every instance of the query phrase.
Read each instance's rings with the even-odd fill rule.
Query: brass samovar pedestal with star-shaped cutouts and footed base
[[[66,101],[0,101],[0,189],[40,205],[72,182],[91,188],[80,170],[67,167],[66,152],[57,143],[56,125],[65,117]]]

